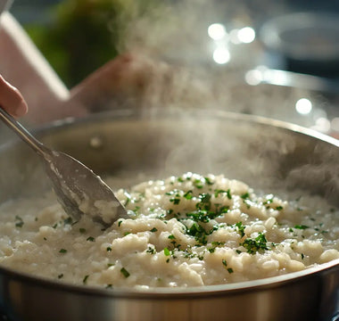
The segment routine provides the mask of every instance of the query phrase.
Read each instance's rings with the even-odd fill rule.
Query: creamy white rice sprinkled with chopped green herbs
[[[117,197],[130,218],[102,230],[73,222],[54,193],[0,208],[0,263],[72,284],[228,284],[339,258],[339,211],[318,197],[255,193],[223,176],[186,173]]]

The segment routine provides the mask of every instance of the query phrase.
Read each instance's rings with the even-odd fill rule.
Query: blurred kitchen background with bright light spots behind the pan
[[[188,70],[171,103],[199,91],[204,106],[339,137],[339,0],[15,0],[10,12],[68,88],[142,53]]]

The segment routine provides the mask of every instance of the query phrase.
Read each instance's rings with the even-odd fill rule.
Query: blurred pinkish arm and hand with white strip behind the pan
[[[163,73],[159,64],[123,54],[94,70],[77,86],[66,88],[9,12],[0,17],[0,62],[0,105],[16,118],[24,116],[30,126],[124,107],[128,99],[142,99],[148,84]]]

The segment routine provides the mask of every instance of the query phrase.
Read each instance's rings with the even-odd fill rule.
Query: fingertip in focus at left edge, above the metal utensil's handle
[[[28,105],[20,91],[0,75],[0,105],[14,117],[21,117],[28,111]]]

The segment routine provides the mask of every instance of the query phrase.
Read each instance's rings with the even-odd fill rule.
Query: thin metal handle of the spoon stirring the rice
[[[37,138],[32,136],[27,129],[16,121],[7,111],[4,111],[2,107],[0,107],[0,118],[9,128],[20,136],[24,142],[28,143],[33,150],[45,157],[44,145],[40,143]]]

